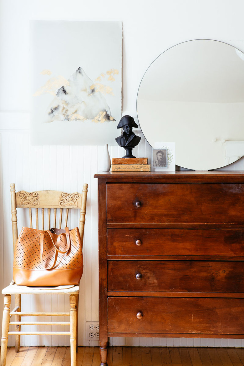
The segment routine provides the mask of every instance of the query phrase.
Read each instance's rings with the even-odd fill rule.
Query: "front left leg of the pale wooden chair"
[[[4,309],[3,309],[0,366],[5,366],[6,357],[7,357],[8,329],[9,329],[9,322],[10,322],[10,304],[11,304],[11,295],[5,295],[4,296]]]

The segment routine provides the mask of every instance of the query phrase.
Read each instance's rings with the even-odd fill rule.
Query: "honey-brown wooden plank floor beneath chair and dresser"
[[[99,366],[98,347],[78,347],[77,366]],[[108,366],[243,366],[244,348],[109,347]],[[8,348],[6,366],[70,366],[69,347]]]

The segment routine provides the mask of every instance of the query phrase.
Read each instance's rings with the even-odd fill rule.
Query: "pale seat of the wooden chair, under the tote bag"
[[[79,294],[79,285],[29,287],[13,284],[5,287],[2,294]]]

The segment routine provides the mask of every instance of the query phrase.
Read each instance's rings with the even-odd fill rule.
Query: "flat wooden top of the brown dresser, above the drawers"
[[[106,182],[244,183],[244,171],[98,172]]]

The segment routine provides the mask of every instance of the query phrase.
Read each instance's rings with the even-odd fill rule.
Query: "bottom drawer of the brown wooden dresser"
[[[108,332],[239,335],[243,307],[244,299],[111,297]]]

